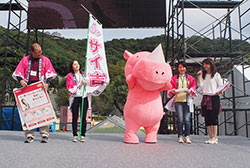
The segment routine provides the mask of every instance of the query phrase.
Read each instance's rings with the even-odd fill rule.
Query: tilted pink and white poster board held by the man
[[[23,130],[32,130],[56,121],[49,95],[39,81],[25,88],[13,89]]]

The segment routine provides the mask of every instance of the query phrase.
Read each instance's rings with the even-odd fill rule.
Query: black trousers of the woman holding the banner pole
[[[73,136],[77,136],[77,119],[79,114],[81,113],[82,108],[82,97],[75,97],[72,103],[72,128],[73,128]],[[80,107],[80,111],[79,111]],[[85,136],[86,133],[86,114],[88,110],[88,98],[84,98],[84,105],[83,105],[83,117],[82,117],[82,132],[81,135]]]

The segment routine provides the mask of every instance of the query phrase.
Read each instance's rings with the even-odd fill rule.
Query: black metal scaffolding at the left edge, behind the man
[[[10,0],[7,3],[0,3],[0,12],[8,12],[7,29],[5,29],[2,35],[5,39],[4,52],[1,53],[1,73],[0,79],[1,85],[1,107],[0,107],[0,129],[3,122],[11,120],[11,128],[14,129],[14,111],[15,101],[12,93],[12,89],[17,87],[16,83],[11,78],[11,73],[15,69],[20,58],[23,57],[23,53],[27,53],[26,34],[22,33],[26,29],[27,19],[23,16],[27,14],[27,8],[25,8],[19,1]],[[5,107],[11,107],[12,118],[4,119],[3,110]]]

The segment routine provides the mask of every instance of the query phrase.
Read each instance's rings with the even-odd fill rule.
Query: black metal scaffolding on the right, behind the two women
[[[249,42],[249,35],[245,35],[244,31],[250,28],[250,22],[248,21],[243,25],[242,20],[249,14],[250,8],[241,10],[241,6],[246,1],[189,1],[189,0],[169,0],[168,13],[167,13],[167,58],[171,64],[174,65],[179,60],[185,60],[192,72],[198,72],[201,68],[201,61],[205,58],[213,58],[216,66],[222,75],[222,77],[230,77],[231,82],[231,94],[223,95],[222,100],[230,102],[231,108],[223,109],[223,119],[219,126],[224,126],[225,135],[237,135],[238,130],[241,128],[246,129],[246,136],[248,137],[248,126],[250,121],[248,119],[249,109],[240,109],[236,105],[237,98],[249,97],[246,85],[249,80],[246,79],[245,72],[249,68],[249,57],[250,51],[238,52],[237,49],[242,44]],[[209,9],[221,10],[224,9],[225,14],[221,17],[214,16],[209,13]],[[201,11],[210,17],[214,21],[208,23],[202,29],[196,29],[189,25],[188,21],[185,20],[185,12],[188,9]],[[195,12],[194,12],[195,13]],[[231,15],[232,13],[238,14],[238,25],[239,28],[232,27]],[[195,20],[195,16],[193,19]],[[186,30],[192,30],[194,34],[191,37],[187,37]],[[219,37],[216,38],[216,33]],[[233,44],[232,33],[237,34],[237,39],[240,40],[238,44]],[[199,38],[201,37],[201,38]],[[199,44],[204,39],[211,39],[213,47],[209,52],[201,52]],[[219,43],[216,42],[216,40]],[[216,50],[216,47],[220,47],[220,51]],[[234,66],[242,65],[242,85],[237,86],[235,84]],[[195,73],[193,75],[196,75]],[[243,88],[243,89],[240,89]],[[237,92],[240,92],[236,95]],[[237,123],[237,114],[241,111],[245,111],[245,122],[243,125]],[[176,117],[174,114],[167,112],[168,117]],[[195,113],[192,116],[193,119],[193,133],[199,134],[206,133],[204,122],[199,120],[200,107],[196,107]],[[174,119],[172,121],[175,121]],[[170,124],[172,124],[170,122]],[[233,131],[228,131],[228,127],[233,127]],[[172,126],[176,129],[176,126]],[[168,131],[173,132],[173,131]],[[176,130],[174,131],[176,132]]]

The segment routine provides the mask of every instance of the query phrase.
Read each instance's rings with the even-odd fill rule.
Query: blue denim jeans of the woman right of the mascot
[[[185,136],[190,136],[190,112],[186,102],[176,102],[175,110],[178,119],[178,136],[183,136],[183,123],[185,123]]]

